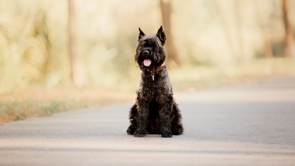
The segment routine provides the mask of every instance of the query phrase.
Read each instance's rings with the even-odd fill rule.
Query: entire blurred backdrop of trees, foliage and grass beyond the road
[[[0,0],[0,123],[135,98],[138,27],[173,89],[295,73],[295,0]]]

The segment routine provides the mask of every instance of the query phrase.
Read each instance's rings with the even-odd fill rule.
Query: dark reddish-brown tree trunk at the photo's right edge
[[[284,56],[293,56],[295,57],[295,41],[294,41],[294,32],[292,25],[289,20],[289,3],[288,0],[283,0],[283,12],[284,12],[284,23],[285,23],[285,48]]]

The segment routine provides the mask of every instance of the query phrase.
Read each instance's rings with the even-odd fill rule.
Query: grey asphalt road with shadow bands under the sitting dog
[[[126,134],[130,103],[0,126],[0,165],[295,165],[295,77],[174,94],[184,134]]]

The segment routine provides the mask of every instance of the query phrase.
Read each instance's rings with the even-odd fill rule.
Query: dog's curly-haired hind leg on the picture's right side
[[[182,117],[181,117],[178,105],[176,104],[175,101],[173,101],[172,111],[173,111],[173,117],[174,117],[171,124],[172,134],[181,135],[183,133],[183,126],[181,123]]]

